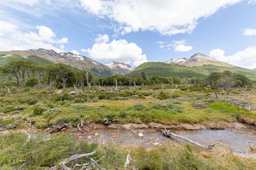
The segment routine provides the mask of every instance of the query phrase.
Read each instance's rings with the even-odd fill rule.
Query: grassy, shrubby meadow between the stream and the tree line
[[[250,119],[256,120],[256,115],[252,111],[245,108],[234,106],[228,100],[216,100],[213,96],[206,94],[203,91],[175,91],[176,98],[168,98],[159,100],[155,97],[160,94],[160,90],[150,89],[149,96],[140,98],[139,96],[145,93],[144,90],[131,92],[126,100],[113,101],[110,99],[96,100],[96,102],[86,102],[87,96],[72,96],[68,95],[68,91],[73,89],[65,89],[61,94],[54,90],[44,89],[38,90],[36,87],[29,91],[25,89],[11,89],[14,94],[2,94],[0,96],[0,111],[4,115],[0,116],[0,123],[4,121],[10,123],[7,112],[16,111],[17,107],[23,106],[26,111],[19,113],[19,117],[25,116],[27,120],[33,119],[41,121],[36,123],[37,127],[46,128],[49,125],[55,125],[60,118],[65,117],[66,121],[71,121],[73,125],[79,123],[80,115],[89,115],[85,120],[92,120],[95,123],[101,123],[107,114],[112,113],[113,118],[119,118],[119,123],[144,123],[151,122],[161,123],[164,125],[179,124],[179,123],[203,123],[205,121],[236,121],[238,115],[250,116]],[[168,94],[172,89],[166,89]],[[90,98],[97,98],[102,92],[93,92]],[[110,93],[107,95],[127,95],[119,93]],[[238,94],[236,94],[238,95]],[[43,96],[43,98],[41,98]],[[178,96],[178,97],[177,97]],[[223,96],[222,98],[227,98]],[[234,97],[229,99],[234,101]],[[196,102],[195,102],[196,101]],[[239,101],[239,100],[236,100]],[[240,100],[242,103],[249,103],[245,100]],[[84,103],[85,102],[85,103]],[[11,103],[11,105],[7,105]],[[203,107],[194,107],[197,103]],[[232,103],[232,102],[231,102]],[[238,102],[235,102],[238,103]],[[245,104],[243,104],[245,105]],[[199,105],[196,105],[199,106]],[[201,106],[201,105],[200,105]],[[36,109],[36,110],[35,110]],[[125,116],[120,115],[125,112]],[[17,118],[16,115],[11,120],[13,123]],[[39,125],[37,125],[39,124]]]

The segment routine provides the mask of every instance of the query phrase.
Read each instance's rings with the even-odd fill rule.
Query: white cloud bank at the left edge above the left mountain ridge
[[[37,48],[53,49],[62,52],[68,38],[56,38],[53,30],[46,26],[36,26],[38,33],[23,32],[21,28],[6,21],[0,21],[0,50],[29,50]],[[9,27],[9,29],[8,29]]]

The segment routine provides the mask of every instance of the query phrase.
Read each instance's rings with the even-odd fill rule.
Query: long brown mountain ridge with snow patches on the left
[[[57,53],[54,50],[46,50],[42,48],[39,48],[38,50],[0,52],[0,66],[6,64],[10,60],[24,60],[26,58],[37,61],[41,64],[63,63],[70,65],[70,67],[75,69],[87,68],[96,77],[108,77],[116,74],[112,69],[104,64],[90,60],[88,57],[83,55],[75,55],[72,52]]]

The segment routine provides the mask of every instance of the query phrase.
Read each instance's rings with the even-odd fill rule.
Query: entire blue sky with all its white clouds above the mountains
[[[201,52],[256,68],[256,0],[2,0],[0,51],[53,49],[97,62]]]

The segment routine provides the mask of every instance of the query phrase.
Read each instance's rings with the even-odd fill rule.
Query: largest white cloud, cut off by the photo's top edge
[[[85,10],[118,24],[117,32],[158,31],[162,35],[191,33],[199,18],[242,0],[80,0]]]

